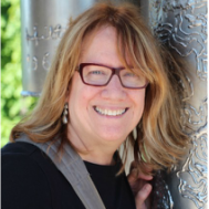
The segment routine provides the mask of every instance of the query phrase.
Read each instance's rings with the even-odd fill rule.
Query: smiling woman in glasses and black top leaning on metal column
[[[176,164],[187,143],[178,112],[181,87],[173,80],[181,74],[169,73],[164,55],[134,6],[94,6],[70,23],[39,104],[12,129],[11,142],[24,133],[35,143],[59,139],[60,151],[70,143],[107,209],[148,208],[146,180]],[[117,160],[122,145],[124,159],[134,150],[133,192],[126,160],[124,166]],[[84,208],[48,157],[25,143],[0,151],[0,203],[2,209]]]

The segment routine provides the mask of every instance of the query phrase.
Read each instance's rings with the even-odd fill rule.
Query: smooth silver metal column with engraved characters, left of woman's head
[[[70,18],[96,0],[21,0],[23,96],[39,96]]]

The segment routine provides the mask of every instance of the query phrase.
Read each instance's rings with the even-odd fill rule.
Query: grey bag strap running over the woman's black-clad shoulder
[[[21,135],[17,142],[32,144],[44,151],[71,184],[86,209],[105,209],[82,158],[69,144],[64,146],[64,151],[61,154],[60,143],[34,143],[27,135]]]

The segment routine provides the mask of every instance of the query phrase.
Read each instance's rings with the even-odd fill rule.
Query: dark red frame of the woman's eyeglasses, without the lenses
[[[84,77],[83,77],[83,70],[85,66],[90,66],[90,65],[95,65],[95,66],[103,66],[103,67],[106,67],[106,69],[109,69],[112,71],[112,75],[109,77],[109,80],[103,84],[103,85],[96,85],[96,84],[90,84],[90,83],[86,83]],[[122,82],[122,79],[121,79],[121,71],[123,70],[126,70],[125,67],[111,67],[111,66],[107,66],[107,65],[104,65],[104,64],[96,64],[96,63],[82,63],[79,65],[79,67],[76,69],[76,71],[80,73],[80,76],[82,79],[82,82],[85,84],[85,85],[90,85],[90,86],[96,86],[96,87],[102,87],[102,86],[107,86],[111,82],[111,80],[113,79],[114,75],[117,75],[119,81],[121,81],[121,84],[123,87],[125,88],[129,88],[129,90],[143,90],[143,88],[146,88],[148,85],[149,85],[149,82],[147,82],[144,86],[142,87],[128,87],[128,86],[125,86]]]

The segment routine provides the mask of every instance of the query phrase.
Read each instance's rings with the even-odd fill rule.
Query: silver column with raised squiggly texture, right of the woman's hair
[[[171,175],[159,174],[154,209],[208,208],[208,1],[142,0],[157,36],[189,61],[190,92],[182,118],[192,147]]]

